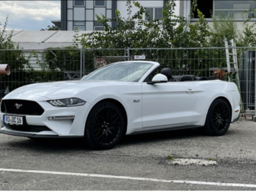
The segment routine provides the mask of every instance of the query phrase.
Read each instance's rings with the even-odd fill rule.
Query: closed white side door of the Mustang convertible
[[[195,103],[192,82],[142,83],[143,129],[186,125],[193,118]]]

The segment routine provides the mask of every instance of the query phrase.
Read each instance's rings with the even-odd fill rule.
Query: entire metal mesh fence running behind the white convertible
[[[0,76],[0,97],[31,83],[81,79],[93,70],[117,61],[147,61],[170,67],[173,76],[191,74],[227,81],[225,47],[179,49],[46,49],[0,50],[0,64],[11,67],[10,76]],[[231,52],[232,49],[230,49]],[[255,48],[237,47],[239,84],[245,110],[255,109]],[[232,56],[230,56],[232,61]],[[232,81],[236,81],[234,64],[230,65]]]

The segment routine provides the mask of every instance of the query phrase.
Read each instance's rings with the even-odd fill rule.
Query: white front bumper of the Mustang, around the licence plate
[[[36,100],[34,100],[36,101]],[[15,115],[6,114],[1,112],[1,129],[0,133],[10,134],[13,136],[26,136],[31,138],[76,138],[84,136],[84,126],[86,118],[92,105],[86,102],[84,106],[59,108],[49,104],[45,99],[37,100],[38,104],[44,109],[44,113],[40,116],[36,115],[17,115],[24,116],[26,118],[26,124],[28,126],[47,127],[48,130],[33,131],[27,129],[13,129],[13,127],[3,124],[3,115]],[[49,120],[50,116],[75,116],[74,120]],[[14,127],[19,125],[13,125]],[[26,128],[26,125],[23,127]]]

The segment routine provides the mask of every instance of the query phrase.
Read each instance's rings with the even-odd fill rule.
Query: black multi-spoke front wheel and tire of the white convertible
[[[90,111],[84,129],[85,144],[97,150],[115,147],[125,131],[122,112],[111,102],[100,102]]]

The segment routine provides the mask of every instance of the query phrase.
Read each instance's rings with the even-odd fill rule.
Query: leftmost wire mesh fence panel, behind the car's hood
[[[80,79],[80,49],[0,50],[0,64],[11,67],[10,76],[0,76],[1,98],[31,83]]]

